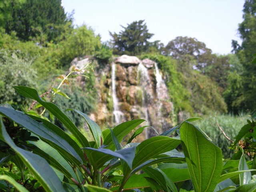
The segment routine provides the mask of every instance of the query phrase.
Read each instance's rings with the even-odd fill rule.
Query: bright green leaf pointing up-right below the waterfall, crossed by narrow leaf
[[[130,120],[123,122],[116,126],[113,129],[114,134],[116,135],[116,138],[118,138],[118,141],[121,142],[124,136],[126,136],[130,131],[132,131],[134,128],[136,128],[138,125],[140,125],[142,122],[144,122],[144,119],[135,119],[135,120]],[[109,146],[108,148],[113,148],[114,142],[112,140],[112,136],[110,134],[110,131],[104,132],[104,145]],[[111,148],[111,149],[112,149]]]

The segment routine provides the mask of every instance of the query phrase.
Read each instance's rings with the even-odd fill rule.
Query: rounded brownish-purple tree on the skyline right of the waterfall
[[[226,89],[228,57],[212,54],[212,50],[196,38],[176,37],[166,45],[164,54],[178,60],[180,72],[199,70],[218,83],[220,93]]]

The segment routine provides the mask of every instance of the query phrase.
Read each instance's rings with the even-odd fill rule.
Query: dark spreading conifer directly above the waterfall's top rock
[[[127,27],[122,26],[124,30],[119,34],[111,33],[112,44],[114,46],[114,54],[138,55],[147,52],[150,46],[148,40],[154,35],[148,32],[148,28],[144,20],[134,21]]]

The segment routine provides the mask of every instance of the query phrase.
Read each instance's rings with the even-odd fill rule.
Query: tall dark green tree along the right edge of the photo
[[[256,65],[252,63],[252,60],[256,53],[256,0],[246,0],[243,12],[244,20],[238,27],[242,44],[239,45],[236,41],[232,41],[233,51],[243,66],[243,72],[240,74],[242,78],[239,78],[242,86],[239,86],[236,99],[233,98],[232,108],[254,111],[256,108]]]

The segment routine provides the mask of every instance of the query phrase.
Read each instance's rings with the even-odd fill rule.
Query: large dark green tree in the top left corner
[[[23,41],[56,42],[68,22],[61,0],[27,0],[22,5],[16,0],[8,9],[11,16],[7,17],[6,33],[16,32]]]

